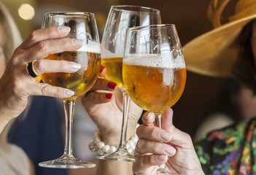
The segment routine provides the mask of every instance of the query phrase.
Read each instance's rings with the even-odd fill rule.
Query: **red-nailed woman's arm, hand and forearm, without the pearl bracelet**
[[[123,93],[120,89],[109,88],[109,80],[104,79],[106,69],[101,71],[101,78],[99,78],[90,90],[87,96],[82,98],[82,104],[85,106],[88,114],[96,123],[102,141],[110,146],[117,147],[120,141],[120,131],[123,120]],[[102,92],[101,90],[104,90]],[[112,98],[106,98],[106,94],[112,93]],[[128,133],[126,140],[131,139],[136,132],[136,124],[139,117],[141,117],[142,109],[131,101],[129,116],[128,116]],[[133,163],[121,162],[113,160],[99,160],[97,168],[97,175],[133,175]]]

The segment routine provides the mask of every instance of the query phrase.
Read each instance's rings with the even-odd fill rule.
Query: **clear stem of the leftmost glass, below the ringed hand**
[[[65,120],[66,120],[66,136],[64,155],[73,157],[72,154],[72,131],[73,131],[73,117],[74,117],[74,101],[64,100]]]

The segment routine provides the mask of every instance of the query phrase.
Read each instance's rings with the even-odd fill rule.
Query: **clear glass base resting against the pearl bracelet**
[[[135,162],[136,157],[131,155],[127,149],[117,149],[116,152],[113,152],[109,155],[96,156],[95,158],[103,160],[117,160],[117,161],[126,161],[126,162]]]

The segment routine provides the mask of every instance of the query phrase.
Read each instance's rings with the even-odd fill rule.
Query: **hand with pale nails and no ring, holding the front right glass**
[[[173,174],[203,174],[190,136],[174,127],[172,116],[171,109],[164,112],[161,129],[155,125],[155,114],[143,115],[144,124],[137,128],[140,156],[133,164],[135,174],[154,174],[164,163]]]

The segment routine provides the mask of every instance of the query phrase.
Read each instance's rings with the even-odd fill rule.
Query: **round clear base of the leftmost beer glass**
[[[94,163],[78,160],[77,158],[61,156],[61,158],[55,160],[49,160],[39,163],[39,166],[45,168],[93,168],[96,165]]]

